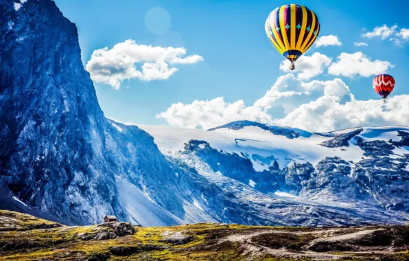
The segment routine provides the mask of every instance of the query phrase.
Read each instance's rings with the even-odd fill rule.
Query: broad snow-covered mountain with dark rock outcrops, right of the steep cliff
[[[371,209],[379,215],[395,213],[399,220],[407,217],[407,127],[309,133],[239,121],[209,131],[140,128],[154,137],[168,158],[186,163],[213,183],[222,184],[225,192],[259,200],[259,205],[280,198],[305,207]],[[268,207],[280,209],[277,205]],[[278,214],[296,214],[293,210],[280,209]]]

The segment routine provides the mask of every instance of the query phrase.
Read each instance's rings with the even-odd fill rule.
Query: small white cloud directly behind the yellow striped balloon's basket
[[[297,78],[300,80],[306,80],[323,73],[324,68],[328,67],[330,63],[331,58],[316,52],[312,54],[312,56],[301,56],[296,60],[296,69],[294,72],[298,73]],[[289,66],[289,60],[283,60],[280,63],[281,71],[290,72]]]

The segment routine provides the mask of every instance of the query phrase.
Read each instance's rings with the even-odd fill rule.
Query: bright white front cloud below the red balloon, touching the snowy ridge
[[[356,126],[409,125],[409,95],[380,100],[351,100],[340,104],[323,96],[301,105],[274,124],[309,131],[334,131]]]

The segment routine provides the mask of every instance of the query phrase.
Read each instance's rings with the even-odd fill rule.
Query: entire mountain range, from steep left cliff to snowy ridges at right
[[[0,14],[0,208],[67,224],[408,220],[409,128],[126,126],[104,117],[54,1]]]

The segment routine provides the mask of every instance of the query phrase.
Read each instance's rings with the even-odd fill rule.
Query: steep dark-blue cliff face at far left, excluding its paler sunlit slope
[[[100,212],[123,215],[102,155],[106,120],[82,66],[75,25],[52,1],[28,1],[19,10],[1,1],[0,12],[3,187],[73,223]]]

